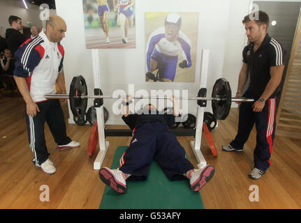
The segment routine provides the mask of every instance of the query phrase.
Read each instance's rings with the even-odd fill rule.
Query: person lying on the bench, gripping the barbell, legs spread
[[[143,108],[142,114],[129,114],[129,95],[124,105],[122,119],[133,130],[133,137],[124,155],[119,160],[118,169],[103,167],[99,177],[113,190],[124,193],[126,180],[145,180],[149,173],[152,160],[161,166],[170,180],[190,180],[191,190],[198,192],[214,175],[214,167],[207,165],[202,169],[194,169],[193,164],[186,159],[184,148],[177,141],[175,134],[169,128],[179,115],[179,103],[174,95],[173,114],[159,114],[154,105]]]

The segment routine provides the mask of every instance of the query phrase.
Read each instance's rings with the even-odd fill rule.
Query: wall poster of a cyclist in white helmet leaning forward
[[[194,82],[199,13],[145,13],[146,82]]]

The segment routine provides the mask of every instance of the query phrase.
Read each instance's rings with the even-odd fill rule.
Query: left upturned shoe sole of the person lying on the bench
[[[126,191],[126,176],[119,169],[108,169],[103,167],[99,171],[99,177],[113,190],[124,193]]]

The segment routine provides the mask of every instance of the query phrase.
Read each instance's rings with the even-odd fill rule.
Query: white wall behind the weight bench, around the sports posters
[[[249,0],[137,0],[136,49],[99,49],[101,68],[101,89],[110,95],[115,89],[127,91],[129,84],[138,89],[189,89],[189,96],[196,96],[199,87],[200,64],[196,66],[195,83],[149,83],[145,82],[145,13],[156,11],[199,12],[199,40],[197,61],[201,49],[210,49],[210,64],[207,77],[207,95],[210,96],[214,82],[225,77],[233,91],[237,88],[237,77],[242,65],[242,49],[245,45],[242,18],[249,12]],[[64,72],[67,91],[75,75],[85,77],[88,92],[93,94],[94,79],[91,62],[91,49],[85,48],[85,28],[82,13],[82,0],[56,0],[57,15],[66,20],[66,38],[61,44],[65,47]],[[236,84],[236,86],[235,86]],[[150,92],[150,91],[149,91]],[[112,113],[114,100],[105,100],[110,112],[108,124],[121,124],[121,116]],[[88,102],[88,108],[93,100]],[[211,103],[207,103],[211,112]],[[196,114],[196,102],[189,101],[189,113]],[[71,114],[72,117],[72,114]],[[72,118],[69,122],[73,123]]]

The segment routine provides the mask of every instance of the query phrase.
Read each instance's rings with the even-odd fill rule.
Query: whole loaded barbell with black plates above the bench
[[[212,101],[212,111],[216,119],[225,119],[229,112],[232,102],[254,102],[253,98],[233,98],[231,97],[231,89],[229,82],[220,78],[217,79],[213,89],[212,96],[206,97],[207,89],[200,89],[197,97],[175,97],[179,100],[196,100],[200,107],[207,106],[207,100]],[[73,77],[69,94],[47,94],[47,99],[68,99],[70,100],[70,109],[73,116],[82,119],[87,109],[87,100],[94,98],[94,107],[103,105],[103,99],[119,99],[126,98],[125,95],[103,95],[101,89],[94,89],[94,95],[88,95],[87,84],[85,78],[80,76]],[[134,95],[133,99],[170,99],[168,96],[146,96]]]

